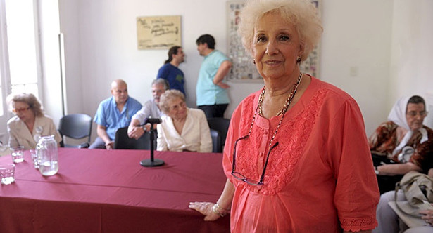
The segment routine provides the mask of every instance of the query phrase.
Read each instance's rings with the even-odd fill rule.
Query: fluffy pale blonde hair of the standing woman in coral
[[[240,24],[238,33],[242,44],[251,54],[253,45],[254,27],[263,15],[278,13],[287,23],[296,27],[299,41],[303,44],[301,60],[306,60],[308,54],[318,44],[323,28],[317,14],[317,9],[310,0],[249,0],[239,15]]]

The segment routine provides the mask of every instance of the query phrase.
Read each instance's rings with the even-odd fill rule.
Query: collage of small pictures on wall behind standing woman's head
[[[318,8],[319,17],[321,17],[321,0],[312,0]],[[234,82],[261,82],[262,77],[258,74],[253,59],[242,46],[241,36],[237,34],[239,27],[239,13],[245,6],[245,1],[227,1],[227,56],[232,60],[233,66],[230,73],[227,74],[227,81]],[[315,46],[308,58],[301,62],[301,72],[318,76],[319,72],[319,45]]]

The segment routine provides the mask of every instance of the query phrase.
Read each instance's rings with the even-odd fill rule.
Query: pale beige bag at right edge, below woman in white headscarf
[[[406,201],[396,201],[400,211],[408,215],[420,217],[420,211],[425,209],[433,210],[433,179],[418,171],[410,171],[403,175],[400,182],[396,183],[396,192],[403,190]]]

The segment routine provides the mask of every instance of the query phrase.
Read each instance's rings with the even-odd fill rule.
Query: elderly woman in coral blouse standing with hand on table
[[[304,74],[322,26],[310,0],[250,0],[239,32],[264,86],[232,114],[216,203],[232,232],[370,232],[379,191],[355,100]]]

